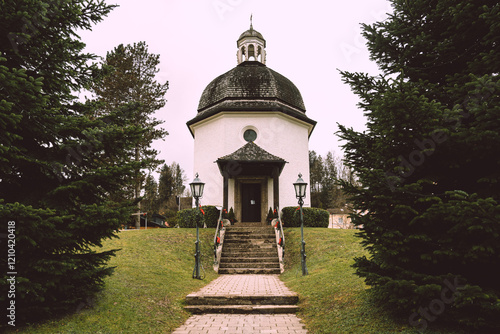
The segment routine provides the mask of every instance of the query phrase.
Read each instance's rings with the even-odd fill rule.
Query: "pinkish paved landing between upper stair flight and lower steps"
[[[296,296],[278,275],[221,275],[188,297],[199,296]]]

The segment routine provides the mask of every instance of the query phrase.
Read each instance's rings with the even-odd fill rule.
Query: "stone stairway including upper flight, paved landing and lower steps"
[[[237,223],[226,227],[215,281],[186,297],[191,313],[284,314],[298,311],[298,295],[279,279],[272,226]]]

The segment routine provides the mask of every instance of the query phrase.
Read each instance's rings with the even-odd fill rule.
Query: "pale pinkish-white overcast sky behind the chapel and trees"
[[[108,0],[108,3],[113,3]],[[317,121],[309,149],[341,154],[337,122],[365,128],[357,97],[338,70],[377,73],[360,23],[383,20],[386,0],[115,0],[119,5],[92,31],[86,51],[98,56],[117,45],[145,41],[160,55],[158,81],[169,81],[157,118],[169,132],[154,144],[167,164],[178,162],[192,180],[193,138],[186,122],[196,115],[203,89],[237,65],[236,40],[253,27],[266,39],[266,65],[302,93],[306,114]]]

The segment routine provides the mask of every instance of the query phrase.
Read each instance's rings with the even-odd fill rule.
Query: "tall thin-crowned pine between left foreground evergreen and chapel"
[[[120,44],[108,52],[103,66],[108,70],[101,80],[94,82],[92,91],[102,105],[99,111],[108,114],[116,108],[130,103],[138,106],[129,116],[132,124],[145,129],[143,136],[138,138],[130,156],[136,161],[145,162],[147,169],[154,170],[163,163],[156,156],[158,151],[151,148],[154,140],[168,135],[167,131],[158,126],[163,123],[153,114],[165,103],[168,82],[159,83],[155,76],[159,71],[160,56],[148,52],[145,42],[124,46]],[[145,174],[140,169],[135,170],[132,183],[129,185],[130,198],[140,198]],[[139,225],[137,216],[136,227]]]

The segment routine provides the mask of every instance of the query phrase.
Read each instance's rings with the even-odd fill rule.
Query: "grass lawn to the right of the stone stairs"
[[[391,318],[370,302],[367,286],[351,267],[354,257],[365,254],[355,233],[355,230],[304,229],[309,275],[302,276],[300,229],[285,230],[285,272],[281,280],[299,294],[298,316],[309,333],[420,333],[410,326],[408,318]],[[440,330],[429,322],[425,333],[465,332]]]

